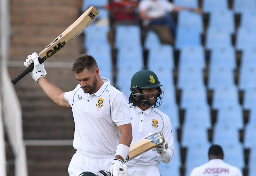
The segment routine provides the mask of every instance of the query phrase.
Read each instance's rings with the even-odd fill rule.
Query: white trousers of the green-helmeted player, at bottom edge
[[[127,166],[127,176],[160,176],[157,166]]]

